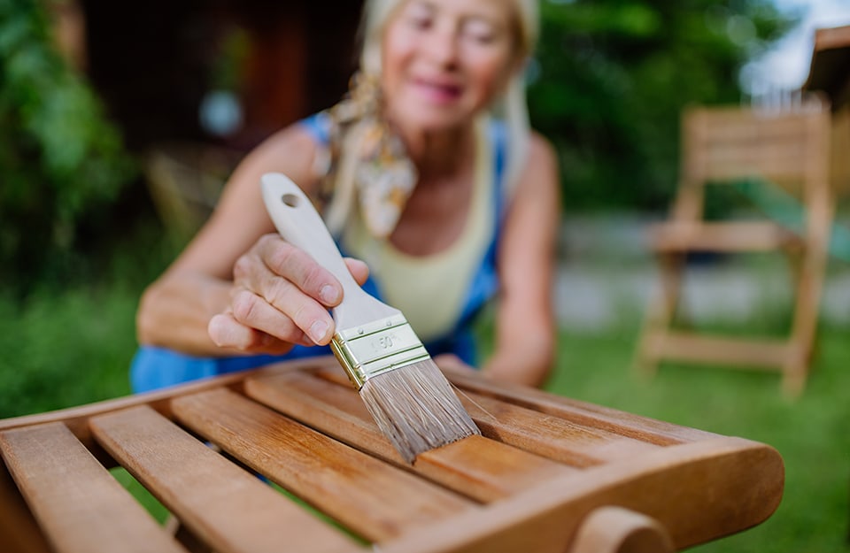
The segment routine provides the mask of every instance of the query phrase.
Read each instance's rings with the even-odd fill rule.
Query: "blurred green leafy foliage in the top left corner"
[[[0,273],[66,266],[135,176],[97,96],[53,47],[45,3],[0,0]]]

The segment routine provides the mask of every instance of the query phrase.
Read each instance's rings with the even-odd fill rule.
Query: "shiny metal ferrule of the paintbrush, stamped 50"
[[[403,315],[337,330],[330,348],[357,389],[379,374],[430,358]]]

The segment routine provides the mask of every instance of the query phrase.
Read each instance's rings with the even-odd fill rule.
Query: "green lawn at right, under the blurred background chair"
[[[850,341],[826,328],[805,394],[785,399],[779,376],[668,365],[652,380],[630,372],[634,333],[562,334],[555,393],[775,447],[786,480],[777,512],[760,526],[694,550],[850,550]]]

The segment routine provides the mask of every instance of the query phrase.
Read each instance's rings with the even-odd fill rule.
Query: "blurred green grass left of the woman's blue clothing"
[[[0,418],[130,393],[138,292],[0,296]]]

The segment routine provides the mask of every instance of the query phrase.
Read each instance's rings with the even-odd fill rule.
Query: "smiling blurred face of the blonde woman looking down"
[[[514,70],[510,0],[408,0],[382,44],[382,87],[402,127],[467,123]]]

